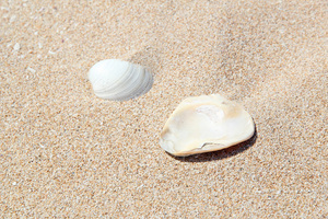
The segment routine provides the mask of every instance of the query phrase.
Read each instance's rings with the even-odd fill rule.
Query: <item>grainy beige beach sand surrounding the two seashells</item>
[[[1,218],[328,218],[327,1],[0,1]],[[151,68],[97,99],[107,58]],[[185,97],[220,93],[257,135],[176,159]]]

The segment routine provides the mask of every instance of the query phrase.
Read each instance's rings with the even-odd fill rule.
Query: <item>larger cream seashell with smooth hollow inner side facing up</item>
[[[219,94],[184,100],[161,134],[161,147],[185,157],[221,150],[249,139],[255,131],[250,115]]]

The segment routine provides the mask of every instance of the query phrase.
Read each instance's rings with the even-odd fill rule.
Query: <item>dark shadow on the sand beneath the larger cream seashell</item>
[[[238,153],[244,152],[245,150],[249,149],[251,146],[255,145],[257,140],[257,128],[255,125],[255,131],[251,138],[248,140],[241,142],[238,145],[232,146],[230,148],[208,152],[208,153],[200,153],[200,154],[194,154],[189,157],[175,157],[169,153],[167,153],[169,157],[174,158],[175,160],[179,160],[181,162],[209,162],[209,161],[215,161],[215,160],[223,160],[233,155],[236,155]]]

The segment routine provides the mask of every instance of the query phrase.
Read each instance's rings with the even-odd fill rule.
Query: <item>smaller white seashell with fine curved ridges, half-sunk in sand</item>
[[[127,101],[147,93],[153,77],[142,66],[106,59],[95,64],[89,71],[94,93],[102,99]]]

